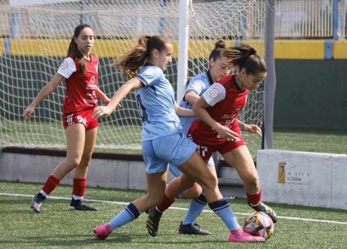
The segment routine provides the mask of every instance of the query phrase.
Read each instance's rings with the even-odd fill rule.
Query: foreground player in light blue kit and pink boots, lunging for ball
[[[194,116],[192,110],[181,108],[174,98],[174,90],[163,71],[171,62],[173,47],[163,36],[143,35],[137,46],[115,63],[130,80],[122,85],[107,106],[96,107],[93,116],[110,115],[119,102],[132,90],[136,90],[138,109],[143,121],[142,155],[146,170],[147,194],[130,203],[113,219],[94,228],[98,239],[107,238],[111,232],[136,219],[141,212],[156,206],[165,196],[168,163],[184,173],[175,180],[175,196],[197,182],[205,191],[209,207],[225,222],[232,239],[229,241],[258,242],[262,237],[252,236],[238,225],[228,201],[218,189],[217,178],[206,167],[196,151],[196,144],[184,134],[179,116]],[[146,62],[146,64],[144,64]],[[144,64],[144,66],[143,66]],[[136,70],[143,66],[138,75]],[[174,202],[175,199],[169,199]],[[157,217],[160,219],[160,217]],[[157,235],[156,221],[147,221],[147,230]]]

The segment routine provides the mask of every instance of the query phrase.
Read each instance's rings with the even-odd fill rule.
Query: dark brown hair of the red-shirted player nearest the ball
[[[247,74],[257,75],[260,72],[266,72],[264,58],[257,54],[257,50],[249,44],[238,44],[233,47],[227,47],[220,53],[226,58],[226,63],[230,66],[244,68]]]

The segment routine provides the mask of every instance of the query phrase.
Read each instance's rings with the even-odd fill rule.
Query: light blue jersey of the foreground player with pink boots
[[[135,77],[144,87],[136,89],[136,102],[143,128],[142,141],[182,133],[180,119],[175,112],[175,92],[163,71],[146,63]]]

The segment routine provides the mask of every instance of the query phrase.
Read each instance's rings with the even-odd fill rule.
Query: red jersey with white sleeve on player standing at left
[[[65,78],[66,94],[63,103],[64,113],[73,113],[97,105],[97,65],[98,58],[90,54],[89,60],[84,59],[87,67],[85,73],[72,56],[66,57],[61,63],[58,73]]]

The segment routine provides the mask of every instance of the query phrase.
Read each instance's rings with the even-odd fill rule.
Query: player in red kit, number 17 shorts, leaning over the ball
[[[249,205],[256,211],[267,213],[276,222],[274,210],[260,202],[258,172],[237,120],[247,93],[258,88],[266,77],[265,61],[247,44],[225,48],[221,56],[227,65],[237,67],[239,71],[221,77],[195,102],[192,110],[199,118],[191,124],[188,136],[199,145],[198,151],[204,160],[218,151],[237,170]]]

